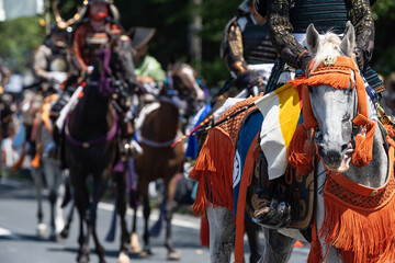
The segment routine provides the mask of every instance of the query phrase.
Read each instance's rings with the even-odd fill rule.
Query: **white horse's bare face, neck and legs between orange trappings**
[[[315,57],[316,65],[313,65],[315,69],[317,65],[325,61],[336,61],[338,56],[351,57],[356,45],[356,35],[354,28],[351,23],[347,24],[347,33],[343,39],[340,39],[337,35],[328,33],[325,35],[324,41],[319,41],[319,35],[317,31],[311,25],[307,28],[306,34],[307,48]],[[359,72],[351,72],[353,80],[356,80],[356,75]],[[352,81],[351,81],[352,82]],[[350,82],[350,87],[351,87]],[[306,88],[304,88],[306,89]],[[374,188],[380,188],[388,180],[390,163],[388,156],[386,153],[385,138],[383,138],[379,125],[374,132],[373,137],[373,150],[372,150],[372,161],[362,168],[358,168],[350,163],[351,153],[354,150],[354,137],[356,130],[360,130],[360,126],[353,125],[352,121],[358,114],[358,96],[356,89],[332,89],[329,85],[319,85],[308,88],[308,93],[311,99],[312,112],[317,123],[315,144],[318,148],[318,153],[320,157],[320,162],[318,164],[316,178],[318,188],[321,188],[327,180],[326,169],[330,171],[342,172],[347,179],[359,183],[360,185],[371,187],[371,196],[377,194]],[[374,107],[371,103],[368,103],[369,117],[371,118],[374,115]],[[325,167],[324,167],[325,165]],[[316,229],[319,231],[325,222],[325,203],[324,196],[321,193],[318,193],[316,196]],[[210,253],[211,262],[223,263],[229,262],[230,253],[234,247],[235,239],[235,225],[233,211],[224,207],[208,206],[207,217],[210,222]],[[337,222],[332,222],[332,226],[338,224],[341,225],[341,219]],[[364,228],[363,222],[354,221],[356,227],[360,227],[362,232],[368,232],[370,229]],[[377,232],[385,232],[387,229],[383,229],[382,226],[377,226],[375,229]],[[296,240],[305,240],[303,236],[295,229],[264,229],[266,237],[266,248],[264,255],[261,262],[287,262],[292,250],[293,244]],[[339,237],[339,236],[337,236]],[[382,237],[382,236],[381,236]],[[321,237],[319,238],[319,243],[323,247],[321,259],[327,262],[345,262],[341,256],[341,251],[339,248],[335,248],[334,242],[325,243],[325,240]],[[345,239],[347,239],[346,237]],[[383,240],[377,239],[366,239],[362,235],[359,240],[362,242],[362,247],[373,248],[372,245],[380,247],[380,242]],[[386,237],[390,241],[394,241],[394,236]],[[340,240],[341,242],[342,240]],[[356,240],[351,242],[350,250],[353,250]],[[375,244],[369,244],[369,243]],[[366,251],[365,251],[366,252]],[[386,251],[387,252],[387,251]],[[362,251],[357,251],[356,253],[363,253]],[[360,259],[363,259],[359,262],[368,262],[366,253],[363,255],[360,254]],[[394,260],[394,258],[391,258]],[[318,262],[318,261],[317,261]],[[354,261],[350,261],[354,262]],[[376,262],[376,261],[372,261]]]

